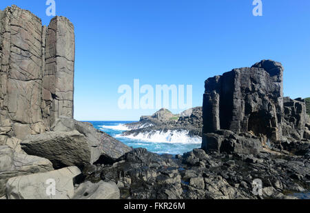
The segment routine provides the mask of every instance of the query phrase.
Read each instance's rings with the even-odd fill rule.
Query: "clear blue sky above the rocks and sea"
[[[310,1],[56,0],[56,15],[76,34],[74,117],[136,121],[155,110],[121,110],[118,87],[193,85],[203,103],[204,81],[262,59],[285,67],[285,96],[310,97]],[[0,10],[30,10],[48,25],[45,0],[1,0]],[[172,110],[178,112],[180,110]]]

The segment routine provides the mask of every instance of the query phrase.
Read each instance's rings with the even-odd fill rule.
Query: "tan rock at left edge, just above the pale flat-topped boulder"
[[[8,145],[0,145],[0,196],[8,179],[14,176],[54,170],[48,159],[16,152]]]

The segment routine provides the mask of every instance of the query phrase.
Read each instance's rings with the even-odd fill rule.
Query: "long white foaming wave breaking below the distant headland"
[[[153,142],[153,143],[201,143],[200,136],[189,136],[187,130],[177,131],[168,130],[167,132],[152,131],[141,132],[136,135],[117,134],[116,138],[135,139],[139,141]]]

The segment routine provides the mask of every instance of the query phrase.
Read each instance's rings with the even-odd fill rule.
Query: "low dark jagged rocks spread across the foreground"
[[[121,199],[293,199],[310,190],[309,159],[287,154],[207,154],[195,149],[183,156],[145,149],[128,152],[114,165],[92,165],[85,181],[117,183]],[[262,194],[253,181],[262,180]]]

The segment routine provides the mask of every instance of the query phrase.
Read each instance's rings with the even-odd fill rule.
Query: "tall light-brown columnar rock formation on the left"
[[[64,17],[50,26],[17,6],[0,12],[0,144],[73,118],[74,27]]]

